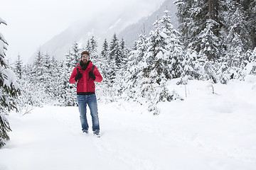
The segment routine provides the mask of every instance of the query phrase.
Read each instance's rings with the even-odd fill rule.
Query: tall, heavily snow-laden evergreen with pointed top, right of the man
[[[166,11],[166,13],[168,13]],[[159,101],[169,101],[171,96],[166,89],[166,81],[176,77],[176,74],[181,74],[181,70],[177,69],[178,62],[183,53],[181,44],[174,33],[176,31],[170,25],[169,19],[164,16],[158,18],[154,23],[156,30],[151,31],[147,40],[147,50],[143,60],[139,62],[142,65],[142,72],[137,74],[140,89],[140,96],[146,98],[149,104],[149,111],[158,114],[156,103]],[[178,47],[178,51],[171,52],[171,48]],[[176,48],[174,47],[174,48]],[[170,61],[171,60],[171,61]],[[171,64],[170,64],[171,63]],[[181,68],[181,66],[179,66]],[[176,73],[176,70],[179,73]],[[162,92],[166,91],[166,92]]]

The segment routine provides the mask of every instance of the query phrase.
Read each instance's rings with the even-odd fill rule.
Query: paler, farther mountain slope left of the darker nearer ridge
[[[95,36],[98,46],[101,48],[105,38],[110,41],[114,33],[118,34],[127,26],[137,23],[139,19],[148,16],[149,13],[153,13],[161,6],[163,1],[154,1],[154,3],[151,2],[147,6],[138,2],[138,6],[134,6],[134,8],[127,6],[124,10],[117,6],[117,8],[113,7],[114,9],[106,9],[107,11],[95,11],[92,16],[85,16],[84,20],[74,23],[63,33],[56,35],[44,45],[41,45],[39,50],[48,52],[49,55],[53,55],[57,60],[64,59],[74,41],[85,47],[87,40],[92,38],[92,35]],[[33,62],[36,53],[31,57],[30,62]]]

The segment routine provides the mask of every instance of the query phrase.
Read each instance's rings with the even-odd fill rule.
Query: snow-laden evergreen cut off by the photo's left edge
[[[0,18],[0,25],[6,24],[2,18]],[[11,111],[16,108],[15,98],[20,94],[20,89],[16,81],[16,76],[6,64],[6,50],[7,41],[4,35],[0,33],[0,147],[5,145],[5,140],[9,140],[7,132],[11,130],[9,122],[5,116],[6,111]]]

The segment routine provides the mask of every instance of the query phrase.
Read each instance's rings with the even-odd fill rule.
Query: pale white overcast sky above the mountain
[[[7,57],[24,62],[45,42],[74,23],[98,13],[120,13],[127,8],[152,13],[165,0],[0,0],[0,33],[9,42]],[[138,16],[139,17],[139,16]]]

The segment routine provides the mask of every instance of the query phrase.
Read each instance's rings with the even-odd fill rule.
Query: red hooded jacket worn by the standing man
[[[81,69],[80,64],[73,69],[73,72],[70,76],[70,83],[75,84],[75,76],[78,74],[78,71],[82,73],[82,78],[78,79],[77,84],[77,92],[95,92],[95,83],[92,78],[89,77],[89,72],[92,70],[92,62],[88,64],[88,67],[85,70]],[[77,70],[78,68],[78,70]],[[95,66],[95,69],[93,70],[93,74],[95,74],[95,81],[100,82],[102,81],[102,76],[100,75],[100,72],[98,71],[97,67]],[[89,79],[90,78],[90,79]]]

